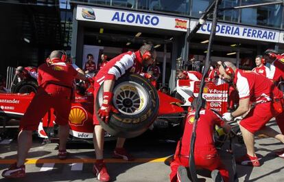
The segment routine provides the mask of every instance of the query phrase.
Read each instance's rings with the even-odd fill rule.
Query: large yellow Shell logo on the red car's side
[[[86,111],[80,106],[73,106],[69,114],[69,123],[75,126],[82,126],[88,119]]]

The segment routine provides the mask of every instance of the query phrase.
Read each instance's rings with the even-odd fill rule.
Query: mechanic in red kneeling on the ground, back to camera
[[[176,146],[176,152],[174,159],[171,162],[171,174],[169,175],[171,182],[180,181],[180,174],[178,174],[179,166],[189,166],[189,151],[191,133],[193,130],[194,116],[196,113],[197,99],[192,102],[192,109],[187,114],[187,120],[185,122],[185,130],[182,135],[182,139],[178,141]],[[215,125],[223,127],[225,133],[230,131],[230,126],[226,124],[219,117],[215,111],[211,109],[204,109],[205,100],[202,99],[202,109],[200,111],[200,118],[198,120],[198,126],[196,129],[196,144],[194,148],[194,161],[197,168],[204,168],[207,170],[219,170],[222,178],[225,182],[228,182],[229,175],[224,164],[222,163],[220,156],[213,141],[213,132]]]

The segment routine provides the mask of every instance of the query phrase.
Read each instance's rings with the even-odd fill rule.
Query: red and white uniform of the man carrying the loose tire
[[[102,69],[100,69],[97,75],[93,78],[94,103],[96,102],[97,91],[99,91],[99,87],[104,82],[104,80],[117,80],[126,72],[141,73],[143,67],[139,62],[142,62],[141,54],[139,51],[126,52],[108,61],[106,66],[102,67]],[[97,112],[97,109],[94,108],[94,111]],[[99,124],[96,115],[93,115],[93,124]]]

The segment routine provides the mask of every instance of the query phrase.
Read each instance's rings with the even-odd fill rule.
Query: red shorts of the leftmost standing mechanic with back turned
[[[20,130],[37,130],[40,120],[51,108],[54,108],[55,122],[67,125],[71,110],[71,89],[54,84],[49,84],[45,90],[39,88],[20,121]]]

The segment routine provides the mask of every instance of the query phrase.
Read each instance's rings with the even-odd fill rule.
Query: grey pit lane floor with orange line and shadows
[[[278,130],[275,122],[268,124]],[[58,160],[57,144],[41,144],[41,139],[35,138],[29,151],[26,164],[27,175],[21,179],[25,181],[97,181],[92,173],[95,152],[92,144],[71,143],[68,151],[69,159]],[[237,142],[237,141],[236,141]],[[283,148],[276,139],[256,139],[257,154],[262,156],[259,168],[237,165],[239,181],[284,181],[284,159],[275,157],[273,150]],[[126,148],[136,157],[135,161],[127,162],[122,159],[112,159],[115,141],[106,141],[105,157],[111,181],[123,182],[162,182],[169,181],[169,160],[174,153],[176,143],[167,139],[153,139],[152,137],[138,137],[128,139]],[[228,148],[228,142],[223,149]],[[246,152],[244,144],[233,145],[235,156],[239,157]],[[221,157],[231,173],[230,154],[221,150]],[[16,159],[16,139],[0,140],[0,172],[7,168]],[[198,171],[199,181],[211,181],[210,173]],[[2,181],[20,181],[19,179],[3,179]]]

